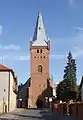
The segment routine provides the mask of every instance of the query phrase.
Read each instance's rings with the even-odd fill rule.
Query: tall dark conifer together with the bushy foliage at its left
[[[72,58],[71,52],[69,52],[67,58],[68,63],[64,69],[64,80],[59,83],[59,88],[57,88],[57,98],[61,100],[76,99],[77,97],[75,59]]]

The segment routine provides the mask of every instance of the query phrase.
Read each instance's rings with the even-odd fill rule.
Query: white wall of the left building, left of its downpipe
[[[9,72],[0,72],[0,113],[3,112],[3,97],[8,108],[8,81]],[[4,89],[6,90],[5,92]]]

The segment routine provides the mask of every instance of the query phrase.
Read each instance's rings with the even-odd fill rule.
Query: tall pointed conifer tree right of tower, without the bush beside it
[[[64,70],[64,81],[65,81],[65,90],[64,90],[64,94],[65,97],[68,99],[75,99],[76,98],[76,90],[77,90],[77,86],[76,86],[76,63],[75,63],[75,59],[72,58],[72,54],[71,52],[69,52],[68,54],[68,63],[67,66],[65,67]]]

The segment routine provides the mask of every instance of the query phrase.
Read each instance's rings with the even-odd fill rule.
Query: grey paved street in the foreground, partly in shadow
[[[0,120],[75,120],[68,116],[52,113],[50,109],[16,109],[1,115]]]

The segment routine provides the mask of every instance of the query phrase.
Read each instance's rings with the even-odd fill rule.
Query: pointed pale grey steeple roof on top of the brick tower
[[[33,36],[33,46],[47,46],[46,34],[41,12],[38,13],[36,27]]]

